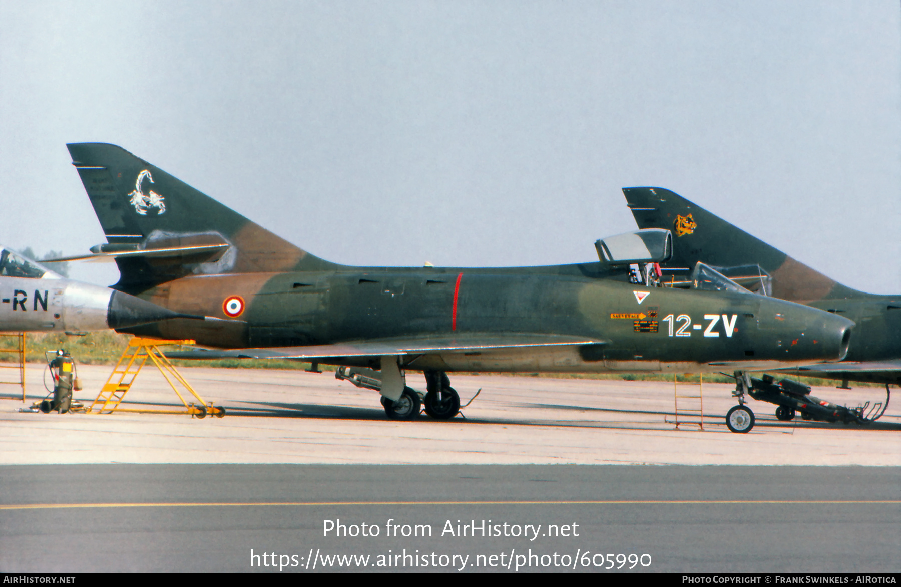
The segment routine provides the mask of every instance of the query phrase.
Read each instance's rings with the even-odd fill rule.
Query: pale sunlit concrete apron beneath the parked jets
[[[112,367],[78,365],[90,405]],[[869,426],[781,422],[775,406],[750,400],[756,426],[733,434],[724,424],[733,386],[703,384],[703,430],[674,426],[674,384],[661,381],[551,379],[451,374],[463,416],[387,419],[378,393],[337,381],[332,372],[182,368],[226,416],[41,414],[20,408],[42,399],[42,367],[29,364],[29,399],[0,386],[0,464],[356,463],[356,464],[901,464],[901,398]],[[8,375],[8,373],[5,373]],[[421,374],[408,385],[424,388]],[[679,384],[678,393],[697,385]],[[855,406],[885,401],[884,388],[815,388],[813,395]],[[21,395],[18,396],[21,398]],[[195,399],[187,396],[191,401]],[[683,406],[696,400],[682,400]],[[145,367],[123,406],[183,406],[159,371]],[[689,418],[698,419],[698,418]]]

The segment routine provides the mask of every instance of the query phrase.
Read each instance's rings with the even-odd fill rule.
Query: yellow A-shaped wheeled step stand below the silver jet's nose
[[[133,337],[132,340],[129,341],[128,347],[122,353],[122,357],[119,358],[119,362],[116,363],[109,379],[106,380],[103,389],[100,390],[99,395],[97,395],[97,399],[94,400],[94,403],[91,404],[90,408],[87,408],[86,412],[91,413],[95,411],[96,408],[97,412],[105,412],[107,414],[119,411],[139,412],[144,414],[190,414],[192,417],[198,418],[206,417],[207,414],[210,416],[223,417],[225,415],[225,408],[215,407],[212,402],[208,406],[206,405],[204,399],[197,395],[197,392],[185,378],[181,376],[181,373],[177,371],[175,365],[173,365],[172,362],[166,358],[166,355],[159,350],[159,346],[163,344],[195,344],[195,342],[193,340],[158,340],[155,338],[141,338],[139,336]],[[178,399],[181,399],[181,403],[185,404],[184,410],[119,407],[125,394],[131,389],[132,383],[138,377],[138,373],[141,372],[141,368],[148,359],[157,366],[159,372],[166,378],[169,386],[175,391]],[[193,403],[189,404],[185,397],[178,391],[173,380],[180,383],[185,390],[190,391],[191,395],[193,395],[199,403],[197,405]]]

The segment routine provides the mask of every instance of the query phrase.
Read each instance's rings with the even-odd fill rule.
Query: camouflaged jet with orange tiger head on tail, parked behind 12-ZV
[[[665,281],[689,282],[697,261],[716,267],[744,287],[851,318],[854,342],[843,362],[801,367],[824,379],[901,383],[901,295],[870,294],[837,283],[664,188],[623,188],[639,228],[673,231]]]

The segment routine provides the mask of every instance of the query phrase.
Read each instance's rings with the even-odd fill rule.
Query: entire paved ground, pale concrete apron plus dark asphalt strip
[[[80,366],[78,398],[109,371]],[[735,435],[728,385],[704,385],[700,430],[671,424],[671,383],[458,375],[464,402],[482,389],[467,419],[395,422],[331,373],[182,371],[228,415],[0,401],[0,571],[901,570],[897,401],[873,426],[779,422],[751,402],[758,425]],[[178,405],[150,372],[126,399]],[[327,520],[379,533],[323,536]],[[417,527],[432,537],[404,536]]]

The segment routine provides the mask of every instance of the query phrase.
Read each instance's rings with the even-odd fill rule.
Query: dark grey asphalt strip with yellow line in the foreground
[[[891,467],[59,465],[2,485],[6,572],[901,570]],[[403,536],[417,526],[431,537]]]

